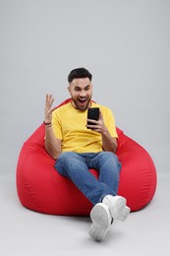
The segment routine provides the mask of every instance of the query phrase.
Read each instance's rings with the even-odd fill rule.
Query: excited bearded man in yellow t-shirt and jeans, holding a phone
[[[125,221],[130,208],[125,198],[117,196],[121,163],[115,155],[118,136],[114,116],[108,107],[91,101],[91,80],[85,68],[71,71],[71,101],[54,111],[53,96],[46,96],[45,149],[56,160],[56,170],[71,179],[92,203],[89,235],[101,241],[113,220]],[[98,120],[86,119],[90,107],[99,107]],[[98,179],[89,168],[98,171]]]

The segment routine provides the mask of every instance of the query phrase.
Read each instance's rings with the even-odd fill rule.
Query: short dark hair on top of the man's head
[[[69,83],[72,83],[72,81],[76,78],[88,78],[89,81],[92,80],[92,75],[87,71],[85,68],[77,68],[71,71],[71,73],[68,76]]]

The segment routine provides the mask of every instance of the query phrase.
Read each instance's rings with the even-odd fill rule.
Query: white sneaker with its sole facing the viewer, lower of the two
[[[101,241],[112,223],[108,206],[103,203],[96,204],[90,212],[90,219],[92,224],[88,233],[94,240]]]

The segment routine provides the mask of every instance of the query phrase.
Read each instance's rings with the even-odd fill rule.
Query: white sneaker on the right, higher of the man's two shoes
[[[107,195],[103,198],[102,202],[108,206],[114,220],[124,222],[131,211],[131,209],[126,206],[127,200],[121,196]]]

